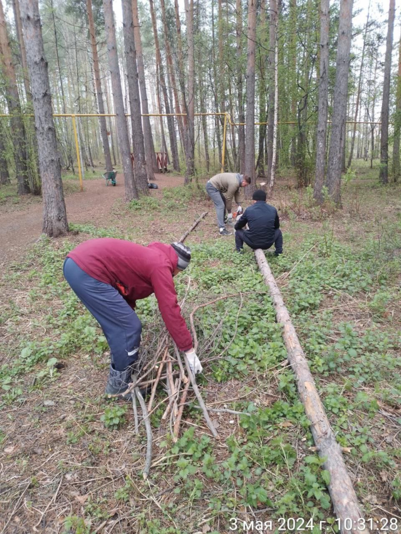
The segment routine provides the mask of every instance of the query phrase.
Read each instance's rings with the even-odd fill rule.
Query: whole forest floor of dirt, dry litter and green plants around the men
[[[311,190],[282,172],[270,201],[284,254],[268,261],[369,530],[401,532],[401,189],[382,187],[378,174],[358,163],[336,210],[328,201],[315,206]],[[159,190],[127,205],[120,184],[88,180],[79,193],[76,180],[66,183],[76,232],[36,243],[38,199],[0,191],[0,532],[204,534],[257,525],[337,532],[328,475],[255,258],[217,235],[203,187],[158,176]],[[195,316],[198,383],[206,405],[221,410],[213,412],[219,439],[191,397],[174,444],[160,424],[161,405],[151,415],[153,462],[144,481],[144,429],[135,435],[129,404],[103,397],[107,345],[61,268],[84,239],[171,242],[205,210],[187,240],[190,268],[175,284],[180,299],[187,295],[186,319],[199,303],[241,293]],[[155,299],[137,311],[142,345],[151,347],[161,328]]]

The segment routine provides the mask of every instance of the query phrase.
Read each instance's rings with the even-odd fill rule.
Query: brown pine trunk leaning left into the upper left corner
[[[7,34],[3,5],[0,1],[0,49],[4,72],[5,98],[11,117],[11,136],[14,144],[14,160],[16,162],[16,176],[18,194],[30,193],[28,183],[27,151],[25,142],[25,128],[21,116],[21,104],[18,94],[17,77]]]

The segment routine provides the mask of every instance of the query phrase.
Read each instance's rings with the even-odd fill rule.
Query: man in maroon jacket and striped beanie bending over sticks
[[[142,332],[135,303],[152,293],[168,332],[178,348],[186,352],[192,372],[202,372],[173,281],[190,260],[190,249],[182,243],[165,245],[155,241],[144,247],[111,238],[89,239],[67,255],[64,276],[101,325],[109,343],[111,364],[106,394],[119,394],[128,387]]]

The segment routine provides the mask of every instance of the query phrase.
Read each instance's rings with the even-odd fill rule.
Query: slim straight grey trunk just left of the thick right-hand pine
[[[326,135],[328,108],[329,72],[329,0],[320,0],[320,67],[319,67],[319,111],[316,148],[316,172],[313,189],[314,198],[323,202],[323,184],[326,169]]]

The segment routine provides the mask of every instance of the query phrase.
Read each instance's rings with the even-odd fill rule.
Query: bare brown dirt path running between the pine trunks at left
[[[182,176],[157,174],[156,183],[160,189],[182,185]],[[151,190],[157,195],[159,190]],[[65,197],[69,223],[110,224],[111,211],[116,201],[124,200],[122,175],[117,177],[117,186],[106,187],[103,179],[86,180],[83,193],[71,193]],[[5,213],[4,213],[5,212]],[[33,244],[42,232],[42,203],[25,205],[16,209],[7,206],[0,210],[0,265],[15,261],[26,247]]]

